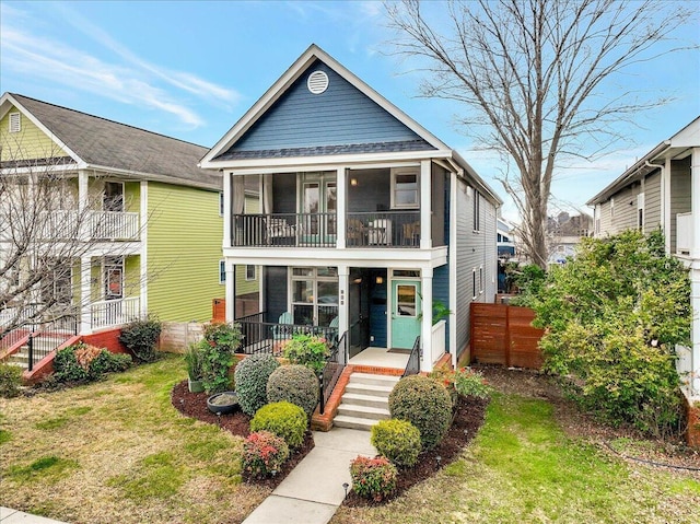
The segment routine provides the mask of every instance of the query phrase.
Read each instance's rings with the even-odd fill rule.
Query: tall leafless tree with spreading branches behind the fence
[[[436,3],[430,8],[436,9]],[[658,0],[472,0],[441,2],[427,19],[419,0],[387,2],[399,54],[422,58],[424,96],[463,103],[459,125],[513,165],[500,177],[522,219],[532,260],[547,261],[552,177],[564,159],[617,141],[660,98],[640,98],[610,81],[635,63],[679,48],[664,46],[690,15]],[[653,74],[650,71],[649,74]],[[628,80],[629,82],[629,80]],[[623,83],[623,82],[622,82]]]

